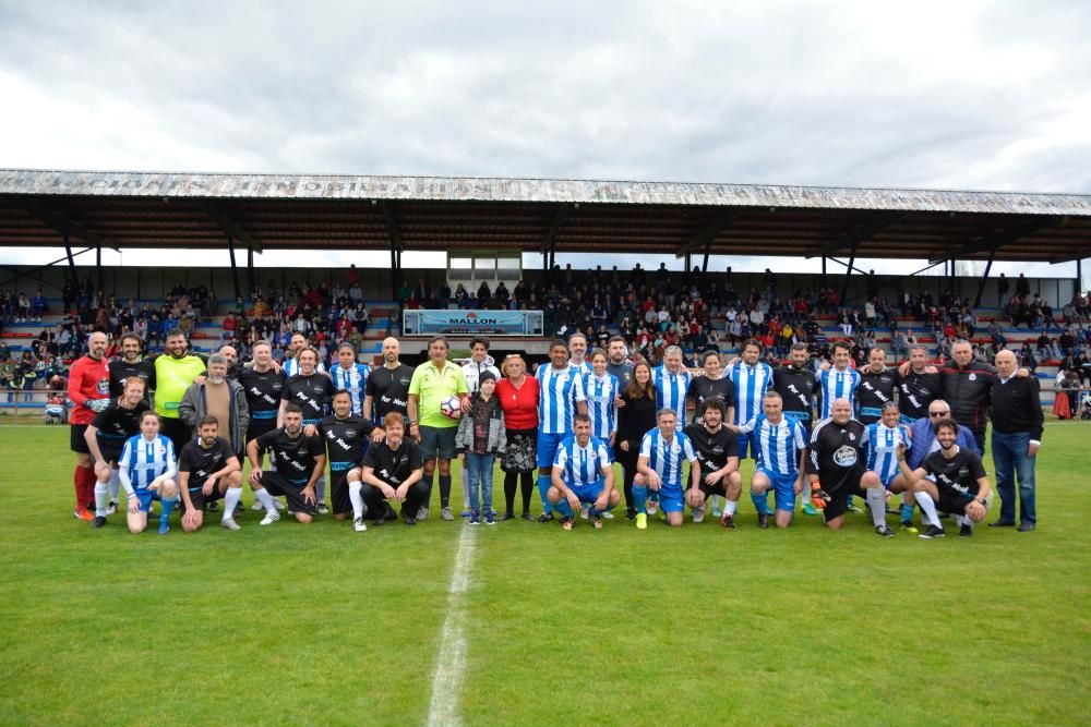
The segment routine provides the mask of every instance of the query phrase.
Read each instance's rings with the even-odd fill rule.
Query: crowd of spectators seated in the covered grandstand
[[[705,272],[695,267],[690,274],[678,274],[669,271],[664,264],[654,271],[639,264],[632,270],[603,270],[601,266],[576,270],[568,265],[555,266],[549,275],[528,276],[512,289],[503,282],[495,287],[481,283],[476,290],[461,284],[452,289],[445,282],[433,287],[419,279],[415,284],[401,286],[398,303],[406,310],[540,310],[544,312],[548,335],[579,331],[589,342],[604,347],[611,336],[620,334],[632,351],[654,364],[661,361],[670,346],[682,348],[688,361],[697,365],[703,351],[732,349],[748,338],[765,344],[770,362],[783,360],[796,342],[806,343],[812,356],[819,359],[828,358],[836,340],[849,340],[854,358],[864,363],[866,351],[878,341],[878,331],[885,337],[887,330],[895,360],[906,359],[909,349],[923,340],[928,340],[933,354],[942,359],[952,341],[973,339],[979,332],[970,299],[960,298],[954,289],[934,296],[930,291],[918,294],[899,289],[897,279],[883,280],[874,271],[863,278],[860,304],[846,305],[832,287],[786,294],[779,276],[770,269],[766,269],[759,284],[744,286],[730,267],[723,272]],[[746,279],[757,282],[753,276]],[[1031,330],[1041,330],[1036,341],[1028,341],[1017,351],[1020,363],[1033,369],[1042,361],[1056,361],[1086,379],[1089,366],[1084,352],[1091,347],[1091,330],[1083,323],[1091,308],[1091,293],[1077,295],[1066,304],[1058,322],[1040,295],[1031,295],[1026,278],[1020,276],[1015,282],[1015,292],[1006,298],[1009,281],[1000,276],[999,304],[1012,326],[1027,324]],[[0,356],[0,384],[9,396],[57,376],[62,361],[77,354],[91,330],[107,332],[110,354],[127,332],[139,336],[147,351],[158,351],[167,331],[179,328],[192,334],[219,307],[215,291],[181,282],[171,286],[158,305],[120,301],[96,289],[89,278],[70,279],[62,298],[62,318],[41,330],[29,343],[29,351],[16,359]],[[890,298],[896,305],[891,305]],[[3,324],[41,322],[49,313],[40,290],[34,295],[8,290],[0,303]],[[269,341],[274,356],[281,358],[292,334],[301,332],[313,342],[322,362],[329,365],[340,342],[360,347],[370,323],[355,266],[348,269],[344,282],[323,281],[313,287],[290,283],[280,290],[269,280],[255,287],[249,299],[239,298],[229,307],[219,324],[219,342],[236,346],[242,360],[249,358],[259,340]],[[919,329],[899,324],[898,314],[920,322]],[[397,328],[396,315],[391,330]],[[839,335],[827,334],[830,323]],[[1051,329],[1057,335],[1051,337]],[[988,343],[974,344],[974,355],[981,361],[991,361],[997,350],[1008,344],[999,320],[993,320],[987,332]]]

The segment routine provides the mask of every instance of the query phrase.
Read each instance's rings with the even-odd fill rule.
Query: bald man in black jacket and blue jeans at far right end
[[[1016,354],[996,354],[996,381],[991,391],[993,468],[1000,495],[1000,517],[991,528],[1016,524],[1016,476],[1019,478],[1019,532],[1036,526],[1034,463],[1042,446],[1042,401],[1038,378],[1019,376]]]

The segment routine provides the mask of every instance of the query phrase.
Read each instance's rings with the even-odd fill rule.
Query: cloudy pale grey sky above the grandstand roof
[[[1091,192],[1091,3],[727,4],[0,0],[0,167]]]

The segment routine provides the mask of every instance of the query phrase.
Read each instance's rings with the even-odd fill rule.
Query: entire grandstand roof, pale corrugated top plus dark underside
[[[735,184],[0,171],[0,244],[1060,262],[1091,196]]]

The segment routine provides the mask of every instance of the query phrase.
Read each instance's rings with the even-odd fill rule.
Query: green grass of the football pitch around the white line
[[[482,525],[459,713],[1087,723],[1089,434],[1050,423],[1031,534],[880,540],[866,516],[758,531],[745,498],[735,532]],[[0,724],[425,720],[464,523],[358,535],[248,510],[238,533],[94,531],[71,518],[67,450],[67,427],[0,432]]]

